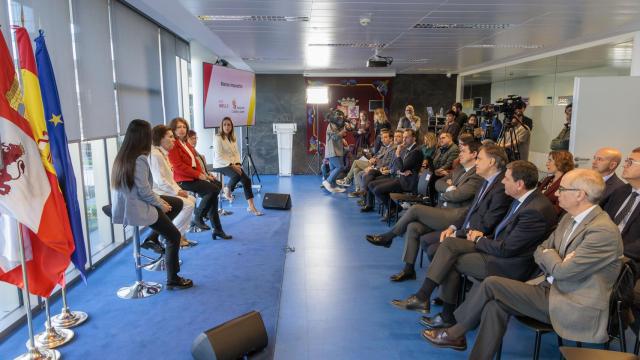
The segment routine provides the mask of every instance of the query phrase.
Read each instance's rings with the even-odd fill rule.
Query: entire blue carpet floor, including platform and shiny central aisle
[[[134,276],[130,246],[92,272],[88,286],[75,286],[72,308],[89,312],[91,319],[60,349],[64,358],[189,359],[197,334],[253,309],[262,313],[269,333],[269,348],[257,359],[468,357],[469,350],[426,343],[420,336],[420,315],[389,304],[418,289],[428,262],[418,268],[418,281],[391,283],[389,275],[402,267],[404,240],[396,239],[390,249],[367,243],[365,234],[388,229],[377,214],[363,215],[355,199],[321,190],[316,176],[262,180],[262,193],[291,193],[292,211],[267,210],[263,217],[249,217],[238,192],[235,213],[222,219],[234,240],[192,234],[200,245],[181,252],[182,273],[194,279],[195,288],[163,291],[144,300],[118,299],[115,291]],[[295,251],[285,255],[287,239]],[[144,272],[144,277],[162,281],[164,274]],[[54,304],[53,312],[59,309]],[[39,315],[37,331],[42,323]],[[22,328],[2,340],[0,359],[24,352],[26,338]],[[470,346],[474,338],[475,332],[468,334]],[[631,343],[635,337],[627,339]],[[503,359],[531,359],[533,342],[532,330],[511,321]],[[555,335],[544,335],[540,358],[558,357]]]

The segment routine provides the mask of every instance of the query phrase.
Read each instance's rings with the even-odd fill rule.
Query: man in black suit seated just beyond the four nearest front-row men
[[[389,203],[389,194],[392,192],[415,192],[418,187],[422,151],[416,144],[416,132],[413,129],[405,129],[402,140],[402,144],[396,148],[394,159],[397,175],[369,183],[369,190],[382,204]],[[395,215],[395,211],[395,208],[388,209],[385,220]]]

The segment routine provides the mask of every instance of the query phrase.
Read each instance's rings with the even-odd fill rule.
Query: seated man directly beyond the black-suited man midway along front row
[[[391,164],[395,156],[394,153],[396,151],[396,148],[393,144],[393,139],[389,131],[381,131],[380,136],[381,145],[378,148],[378,152],[374,156],[372,156],[371,159],[369,159],[369,161],[367,162],[367,166],[362,171],[356,173],[356,175],[354,176],[356,189],[354,192],[349,193],[347,195],[348,197],[358,197],[365,195],[365,189],[367,185],[369,185],[369,182],[375,179],[377,176],[382,175],[381,171],[388,171],[389,165]],[[402,141],[402,138],[400,138],[400,141]]]

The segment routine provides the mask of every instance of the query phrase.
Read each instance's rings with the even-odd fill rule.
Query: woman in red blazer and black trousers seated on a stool
[[[200,196],[200,204],[194,211],[193,224],[203,230],[209,230],[203,218],[208,217],[213,227],[212,238],[215,240],[231,239],[224,233],[220,217],[218,216],[218,194],[220,194],[220,182],[213,175],[207,174],[196,158],[196,150],[187,142],[189,124],[183,118],[175,118],[169,123],[177,138],[175,146],[169,151],[169,162],[173,166],[173,179],[181,188],[192,191]]]

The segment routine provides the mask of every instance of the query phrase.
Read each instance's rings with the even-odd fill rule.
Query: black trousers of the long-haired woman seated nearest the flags
[[[180,250],[180,231],[171,222],[178,213],[182,211],[182,200],[173,196],[160,196],[162,200],[171,205],[171,210],[167,213],[162,209],[156,208],[158,211],[158,220],[149,225],[156,233],[165,239],[164,261],[167,267],[167,281],[178,280],[180,272],[179,255]]]

